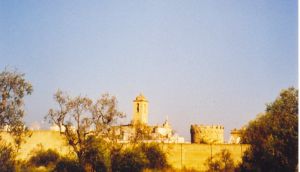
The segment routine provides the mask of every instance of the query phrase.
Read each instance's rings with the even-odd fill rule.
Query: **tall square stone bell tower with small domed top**
[[[133,124],[148,123],[148,101],[143,94],[133,100]]]

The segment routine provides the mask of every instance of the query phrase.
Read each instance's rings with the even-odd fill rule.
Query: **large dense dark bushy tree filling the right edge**
[[[298,90],[283,90],[242,135],[251,145],[241,171],[295,171],[298,164]]]

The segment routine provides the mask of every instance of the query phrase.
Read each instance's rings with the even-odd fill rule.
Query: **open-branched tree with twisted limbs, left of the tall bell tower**
[[[86,154],[90,152],[90,137],[110,142],[114,124],[124,114],[118,111],[116,98],[109,94],[93,101],[82,96],[72,98],[58,90],[54,99],[58,107],[50,109],[46,119],[59,127],[60,133],[76,153],[79,163],[84,166]]]

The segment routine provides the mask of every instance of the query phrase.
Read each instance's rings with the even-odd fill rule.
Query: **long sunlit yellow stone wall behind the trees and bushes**
[[[12,140],[7,133],[1,135],[6,141]],[[18,158],[28,159],[31,150],[37,148],[38,144],[43,145],[45,149],[56,149],[63,155],[72,151],[58,131],[34,131],[32,136],[26,139],[26,143],[21,146]],[[167,152],[168,162],[174,168],[186,167],[202,171],[205,170],[205,160],[222,149],[228,149],[232,153],[235,163],[240,162],[242,154],[248,146],[238,144],[161,144],[161,147]]]

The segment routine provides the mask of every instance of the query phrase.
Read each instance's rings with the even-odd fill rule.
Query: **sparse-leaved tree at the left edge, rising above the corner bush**
[[[24,131],[24,97],[33,91],[32,85],[25,80],[25,74],[5,69],[0,73],[0,130],[14,136],[20,146]]]

